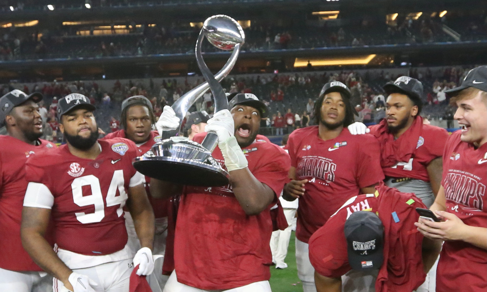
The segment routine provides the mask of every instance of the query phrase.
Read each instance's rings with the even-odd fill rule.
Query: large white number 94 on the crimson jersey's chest
[[[90,186],[92,194],[89,196],[83,196],[83,186]],[[94,213],[86,214],[85,212],[75,213],[76,219],[83,223],[95,223],[100,222],[105,218],[105,203],[103,201],[103,195],[101,194],[100,180],[94,175],[87,175],[79,178],[75,178],[73,183],[71,183],[71,188],[73,189],[73,201],[76,205],[80,207],[94,205]],[[120,193],[116,196],[117,189]],[[124,178],[123,170],[118,169],[113,172],[112,182],[108,188],[107,194],[107,207],[112,207],[115,205],[120,205],[117,209],[118,217],[123,214],[123,206],[125,206],[125,201],[129,197],[125,192],[124,188]]]

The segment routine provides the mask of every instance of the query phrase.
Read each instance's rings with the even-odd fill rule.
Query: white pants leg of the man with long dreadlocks
[[[296,264],[298,266],[298,277],[303,283],[304,292],[316,292],[315,268],[309,261],[309,246],[296,238]]]

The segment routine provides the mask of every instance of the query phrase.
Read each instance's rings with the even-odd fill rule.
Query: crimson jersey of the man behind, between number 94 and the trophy
[[[112,139],[115,137],[126,138],[125,130],[118,130],[116,132],[110,133],[105,137],[103,137],[103,140]],[[146,143],[139,145],[138,147],[140,151],[142,151],[142,154],[144,154],[147,151],[149,151],[154,144],[161,141],[162,141],[161,135],[159,135],[157,131],[151,131],[149,140]],[[152,198],[152,196],[150,196],[149,183],[150,183],[150,177],[146,176],[146,183],[144,185],[146,187],[147,197],[149,198],[150,205],[152,205],[152,209],[154,210],[154,217],[155,218],[168,217],[169,200]]]

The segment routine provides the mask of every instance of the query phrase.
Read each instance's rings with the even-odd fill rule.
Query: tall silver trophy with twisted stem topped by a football
[[[203,60],[201,44],[204,37],[215,47],[222,50],[233,50],[225,66],[216,75],[210,72]],[[228,100],[220,81],[225,78],[237,62],[245,35],[242,26],[226,15],[207,18],[203,23],[196,41],[196,61],[206,82],[188,91],[173,105],[176,116],[183,121],[187,110],[202,96],[208,88],[215,98],[215,112],[228,108]],[[201,144],[174,137],[179,128],[163,132],[162,141],[154,144],[151,151],[133,160],[133,166],[143,175],[172,183],[219,186],[228,184],[228,173],[211,157],[211,152],[218,144],[216,133],[207,133]]]

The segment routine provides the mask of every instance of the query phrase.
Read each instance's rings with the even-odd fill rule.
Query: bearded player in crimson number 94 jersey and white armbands
[[[139,275],[154,268],[154,215],[144,176],[132,166],[140,151],[127,139],[98,140],[94,109],[82,94],[60,99],[66,145],[31,156],[25,166],[22,245],[56,278],[54,291],[125,292],[134,266],[140,264]],[[127,245],[126,204],[142,246],[135,256]],[[51,218],[56,251],[43,237]]]

